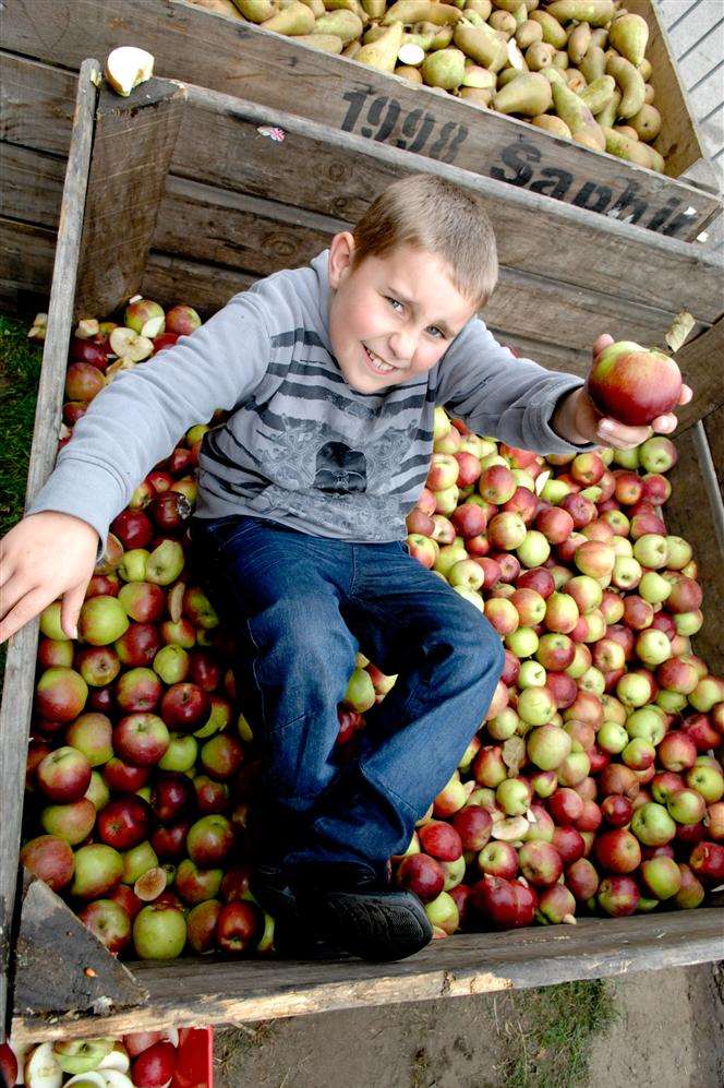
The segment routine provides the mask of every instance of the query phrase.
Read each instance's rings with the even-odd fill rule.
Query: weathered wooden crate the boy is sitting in
[[[542,361],[580,373],[599,333],[655,342],[677,310],[692,311],[697,337],[683,364],[697,397],[683,413],[686,481],[677,495],[685,499],[672,517],[707,557],[708,569],[721,570],[712,526],[722,523],[722,505],[701,423],[702,417],[704,423],[720,418],[724,400],[724,302],[713,258],[676,239],[220,93],[159,79],[129,99],[98,93],[97,67],[86,61],[81,71],[62,199],[52,170],[38,187],[49,216],[60,207],[61,227],[28,501],[55,459],[74,316],[105,315],[138,290],[167,304],[201,300],[212,311],[279,262],[306,261],[387,181],[420,170],[475,191],[491,208],[503,274],[485,316],[498,336]],[[272,118],[282,124],[281,142],[269,138]],[[218,155],[209,154],[214,148]],[[307,171],[311,162],[315,168]],[[19,244],[32,250],[45,274],[53,241],[50,228],[38,227]],[[712,644],[724,623],[723,601],[720,591],[707,602],[705,637]],[[41,882],[26,875],[16,886],[36,644],[37,624],[12,639],[0,712],[0,906],[9,968],[3,979],[11,980],[19,1042],[97,1035],[99,1015],[102,1031],[118,1035],[162,1024],[253,1020],[543,985],[721,955],[724,914],[710,906],[616,921],[581,919],[576,928],[461,934],[394,965],[209,957],[119,964]],[[710,663],[722,668],[721,647],[719,661],[712,657]]]

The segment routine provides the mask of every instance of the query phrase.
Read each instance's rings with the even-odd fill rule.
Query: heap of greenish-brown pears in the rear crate
[[[649,26],[623,0],[191,0],[664,171]]]

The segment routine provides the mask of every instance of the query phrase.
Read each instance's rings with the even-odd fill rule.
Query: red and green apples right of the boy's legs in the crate
[[[397,882],[437,936],[699,906],[724,881],[724,680],[666,533],[673,443],[547,459],[436,411],[408,546],[487,617],[505,668]]]

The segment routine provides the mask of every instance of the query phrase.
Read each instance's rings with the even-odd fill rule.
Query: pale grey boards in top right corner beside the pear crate
[[[704,144],[724,183],[724,3],[655,0]]]

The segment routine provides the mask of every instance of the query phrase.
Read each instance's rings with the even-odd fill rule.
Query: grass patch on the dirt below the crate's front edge
[[[500,1088],[583,1084],[592,1038],[618,1015],[614,988],[603,979],[506,994],[496,1009],[506,1054],[497,1069]]]

